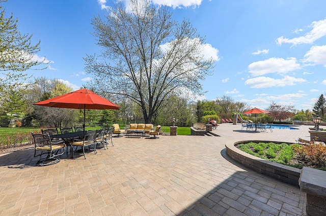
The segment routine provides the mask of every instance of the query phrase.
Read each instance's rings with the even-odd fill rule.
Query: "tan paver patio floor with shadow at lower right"
[[[114,147],[87,159],[43,167],[34,166],[33,149],[2,154],[0,215],[305,215],[300,188],[234,162],[225,143],[310,139],[308,126],[240,129],[221,124],[218,137],[114,137]]]

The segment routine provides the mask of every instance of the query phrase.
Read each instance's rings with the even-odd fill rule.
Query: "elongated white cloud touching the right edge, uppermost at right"
[[[313,21],[309,27],[312,28],[312,30],[305,36],[295,37],[292,39],[281,36],[277,39],[277,44],[282,45],[282,43],[292,43],[295,46],[302,43],[313,43],[315,40],[326,35],[326,19]]]

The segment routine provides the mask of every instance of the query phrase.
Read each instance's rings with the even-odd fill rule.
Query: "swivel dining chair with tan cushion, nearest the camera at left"
[[[63,140],[51,140],[49,134],[34,134],[32,133],[34,139],[34,157],[40,156],[37,161],[37,165],[50,165],[53,163],[58,163],[60,161],[57,156],[63,155],[65,153],[65,142]],[[61,152],[62,151],[62,152]],[[37,155],[37,152],[40,154]],[[42,159],[42,155],[47,154],[46,158]],[[54,162],[48,161],[55,159]]]

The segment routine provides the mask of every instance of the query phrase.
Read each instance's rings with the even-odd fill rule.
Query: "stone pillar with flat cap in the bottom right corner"
[[[307,215],[326,215],[326,172],[304,166],[299,179],[300,190],[307,195]]]

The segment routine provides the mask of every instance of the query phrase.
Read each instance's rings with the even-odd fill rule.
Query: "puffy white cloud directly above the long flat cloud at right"
[[[263,61],[253,62],[248,68],[249,73],[257,77],[270,73],[286,74],[289,71],[300,69],[301,66],[296,63],[296,58],[269,58]]]

